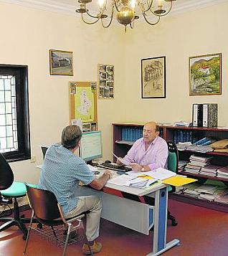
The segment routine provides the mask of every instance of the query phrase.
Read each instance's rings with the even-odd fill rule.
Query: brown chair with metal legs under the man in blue
[[[85,237],[85,242],[88,245],[85,229],[82,222],[82,218],[85,217],[87,212],[79,214],[76,217],[65,219],[62,214],[60,204],[58,204],[56,197],[51,191],[36,189],[32,188],[31,186],[27,186],[27,198],[29,201],[29,206],[32,209],[32,217],[29,224],[27,240],[24,245],[24,255],[27,250],[31,229],[39,232],[39,234],[42,234],[45,238],[57,242],[60,247],[64,247],[62,256],[65,256],[66,254],[67,244],[77,242],[77,240],[75,240],[73,237],[70,238],[70,232],[77,229],[77,227],[82,227],[83,237]],[[34,218],[36,218],[37,221],[42,224],[42,227],[32,227]],[[76,222],[77,224],[73,226],[73,222]],[[64,233],[66,231],[66,227],[67,235],[65,237]],[[92,255],[91,250],[90,254]]]

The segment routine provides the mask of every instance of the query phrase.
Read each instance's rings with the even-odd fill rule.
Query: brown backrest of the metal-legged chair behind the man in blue
[[[37,219],[43,224],[60,218],[60,210],[56,197],[51,191],[27,187],[27,196],[30,207],[34,210]]]

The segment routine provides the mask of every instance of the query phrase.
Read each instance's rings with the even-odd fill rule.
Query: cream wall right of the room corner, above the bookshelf
[[[228,4],[166,16],[156,27],[135,24],[126,39],[128,121],[191,121],[193,103],[218,103],[219,125],[227,118]],[[222,95],[189,96],[189,57],[222,52]],[[141,98],[141,59],[166,56],[166,99]],[[140,106],[136,108],[136,105]]]

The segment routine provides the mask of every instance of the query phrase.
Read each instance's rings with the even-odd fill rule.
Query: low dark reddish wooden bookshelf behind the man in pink
[[[128,132],[127,132],[128,131]],[[123,157],[128,152],[133,142],[136,141],[137,134],[143,132],[143,124],[135,123],[113,123],[113,152],[116,156]],[[128,133],[128,134],[126,134]],[[160,136],[166,141],[186,142],[195,141],[204,137],[213,137],[217,140],[228,138],[228,128],[203,128],[203,127],[180,127],[180,126],[161,126]],[[124,139],[123,139],[124,138]],[[181,160],[188,160],[189,157],[196,153],[195,151],[179,151],[179,158]],[[220,166],[228,166],[228,153],[220,152],[206,152],[199,153],[199,156],[210,155],[213,156],[212,164]],[[113,161],[116,159],[113,158]],[[199,183],[203,184],[206,179],[215,181],[222,181],[228,186],[228,179],[220,178],[217,176],[206,176],[202,174],[191,174],[186,171],[180,171],[179,174],[183,174],[199,180]],[[197,199],[184,194],[170,194],[171,199],[176,199],[181,202],[187,202],[189,204],[198,205],[200,207],[206,207],[209,209],[215,209],[222,212],[228,212],[228,204],[222,204],[218,202],[209,202],[204,199]]]

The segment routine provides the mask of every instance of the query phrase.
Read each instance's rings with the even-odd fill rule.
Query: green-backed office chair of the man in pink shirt
[[[175,143],[172,141],[167,141],[168,145],[168,170],[174,171],[175,173],[178,171],[178,162],[179,162],[179,154],[178,149],[176,148]],[[168,193],[175,192],[175,186],[169,186],[168,187]],[[171,213],[168,211],[168,219],[171,219],[172,226],[176,226],[178,223],[176,222],[176,218],[171,215]]]

